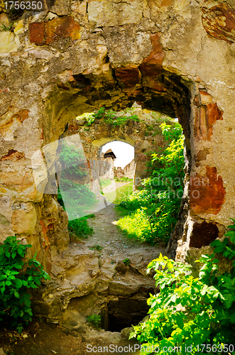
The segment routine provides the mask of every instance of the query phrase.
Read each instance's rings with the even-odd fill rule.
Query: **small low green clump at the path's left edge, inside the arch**
[[[92,214],[90,214],[92,216]],[[72,219],[67,224],[67,229],[70,234],[70,239],[80,239],[80,238],[87,238],[89,235],[92,235],[93,228],[89,226],[87,223],[87,218],[82,217],[80,219]]]

